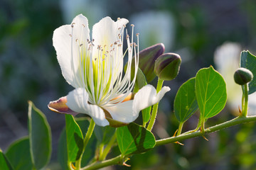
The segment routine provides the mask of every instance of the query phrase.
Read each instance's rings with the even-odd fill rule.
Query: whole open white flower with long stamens
[[[110,17],[102,18],[92,28],[92,39],[87,18],[76,16],[70,25],[61,26],[53,33],[53,46],[63,77],[75,88],[68,96],[50,102],[48,107],[58,113],[85,113],[97,125],[127,124],[134,121],[139,111],[158,103],[169,87],[164,86],[158,94],[147,85],[132,94],[139,62],[139,43],[124,36],[127,19],[116,22]],[[127,31],[126,31],[127,32]],[[125,39],[124,39],[125,38]],[[123,40],[127,50],[123,53]],[[123,58],[128,55],[127,71],[123,72]],[[134,55],[134,77],[132,56]],[[114,125],[112,123],[112,125]]]

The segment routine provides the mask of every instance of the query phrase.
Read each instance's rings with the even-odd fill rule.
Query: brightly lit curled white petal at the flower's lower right
[[[133,103],[133,117],[136,119],[139,115],[139,111],[142,111],[144,108],[158,103],[164,94],[171,89],[168,86],[164,86],[158,94],[156,94],[156,89],[154,86],[146,85],[140,89],[137,94],[134,96]]]

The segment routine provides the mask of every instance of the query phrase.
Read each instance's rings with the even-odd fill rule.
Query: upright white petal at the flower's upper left
[[[60,64],[63,77],[66,81],[68,81],[69,84],[74,87],[78,87],[78,82],[75,80],[75,77],[78,74],[77,69],[80,58],[78,43],[82,44],[83,42],[87,42],[87,39],[90,39],[90,30],[88,28],[87,18],[81,14],[76,16],[72,23],[73,31],[71,25],[60,26],[54,30],[53,46],[55,47],[57,53],[57,59]],[[75,41],[77,39],[78,42]],[[73,47],[71,47],[72,41]],[[73,60],[71,55],[72,51]]]

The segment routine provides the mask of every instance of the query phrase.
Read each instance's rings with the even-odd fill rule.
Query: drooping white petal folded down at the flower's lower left
[[[78,113],[85,113],[87,115],[90,115],[97,125],[109,125],[102,108],[97,105],[92,105],[88,103],[88,94],[85,89],[78,88],[70,91],[67,96],[67,100],[68,102],[66,103],[66,105],[71,110]]]

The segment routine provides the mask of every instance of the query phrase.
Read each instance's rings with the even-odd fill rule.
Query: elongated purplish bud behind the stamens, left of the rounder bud
[[[152,45],[139,52],[139,68],[142,69],[142,72],[145,75],[146,81],[148,83],[156,77],[156,74],[154,73],[154,64],[156,59],[163,53],[164,53],[164,44],[162,43]],[[127,68],[127,64],[124,66],[124,71],[126,71],[126,68]],[[133,75],[134,75],[134,59],[132,60],[132,76]]]

